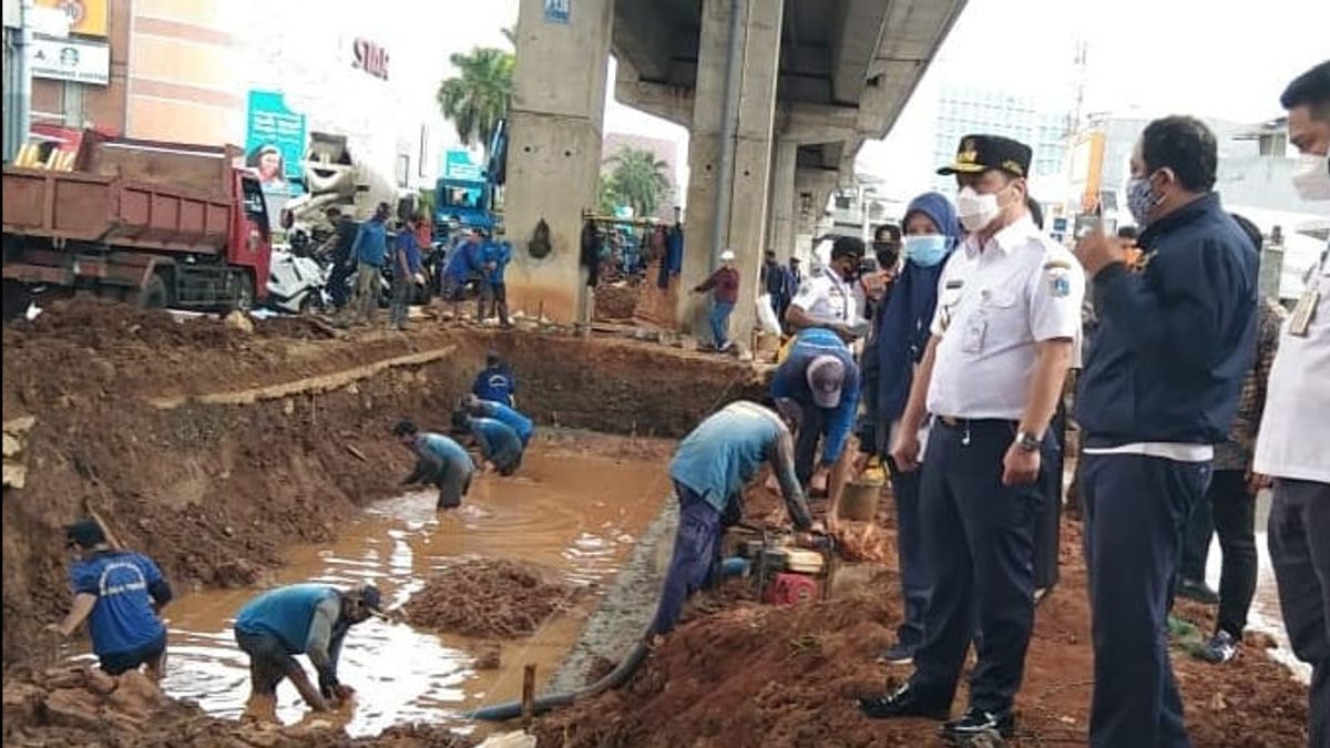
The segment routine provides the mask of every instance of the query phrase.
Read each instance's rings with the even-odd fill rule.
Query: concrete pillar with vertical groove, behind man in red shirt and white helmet
[[[730,52],[730,7],[738,8],[738,75],[732,96],[738,97],[738,121],[733,124],[734,161],[728,184],[721,180],[725,126],[725,80]],[[771,181],[771,126],[775,116],[775,85],[781,55],[783,0],[704,0],[698,40],[697,85],[693,96],[693,129],[689,141],[686,250],[680,294],[678,323],[702,338],[706,333],[706,298],[689,295],[714,269],[714,254],[732,249],[741,276],[739,301],[730,317],[730,337],[750,343],[757,299],[758,272],[766,246],[767,190]],[[725,201],[717,216],[717,193]],[[713,248],[714,226],[721,220],[721,246]]]

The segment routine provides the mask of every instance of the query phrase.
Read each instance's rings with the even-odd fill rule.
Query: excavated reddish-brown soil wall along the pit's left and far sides
[[[394,492],[410,455],[392,422],[446,427],[491,349],[544,425],[678,437],[761,391],[750,369],[654,345],[420,327],[245,330],[84,301],[7,326],[4,421],[35,423],[23,487],[4,490],[5,671],[56,655],[43,627],[69,602],[65,523],[94,510],[178,587],[254,583],[286,544]],[[200,402],[218,394],[242,405]]]

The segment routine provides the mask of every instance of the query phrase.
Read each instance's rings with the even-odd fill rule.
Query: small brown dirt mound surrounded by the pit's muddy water
[[[499,559],[463,562],[438,574],[407,600],[407,619],[436,631],[485,639],[533,634],[580,588],[541,570]]]

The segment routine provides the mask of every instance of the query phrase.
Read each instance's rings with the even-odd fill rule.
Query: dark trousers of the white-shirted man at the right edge
[[[1293,654],[1311,665],[1309,748],[1330,747],[1330,483],[1274,484],[1270,560]]]

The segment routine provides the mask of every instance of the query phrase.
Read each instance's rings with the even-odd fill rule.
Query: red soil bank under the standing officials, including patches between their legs
[[[775,494],[758,488],[746,499],[750,518],[785,523]],[[819,504],[825,502],[814,508]],[[716,599],[692,606],[621,689],[544,717],[537,724],[540,747],[942,745],[936,723],[870,720],[855,705],[857,696],[880,693],[911,672],[874,661],[894,642],[900,620],[892,506],[883,502],[876,523],[886,571],[853,596],[775,608],[737,594],[732,583]],[[1080,544],[1080,526],[1064,522],[1061,583],[1036,608],[1013,745],[1088,743],[1093,651]],[[1181,612],[1205,618],[1194,607]],[[1213,627],[1213,620],[1197,623],[1204,631]],[[1222,667],[1174,647],[1173,667],[1197,748],[1306,745],[1306,687],[1269,659],[1269,644],[1267,638],[1250,636]],[[956,712],[966,697],[963,679]]]

